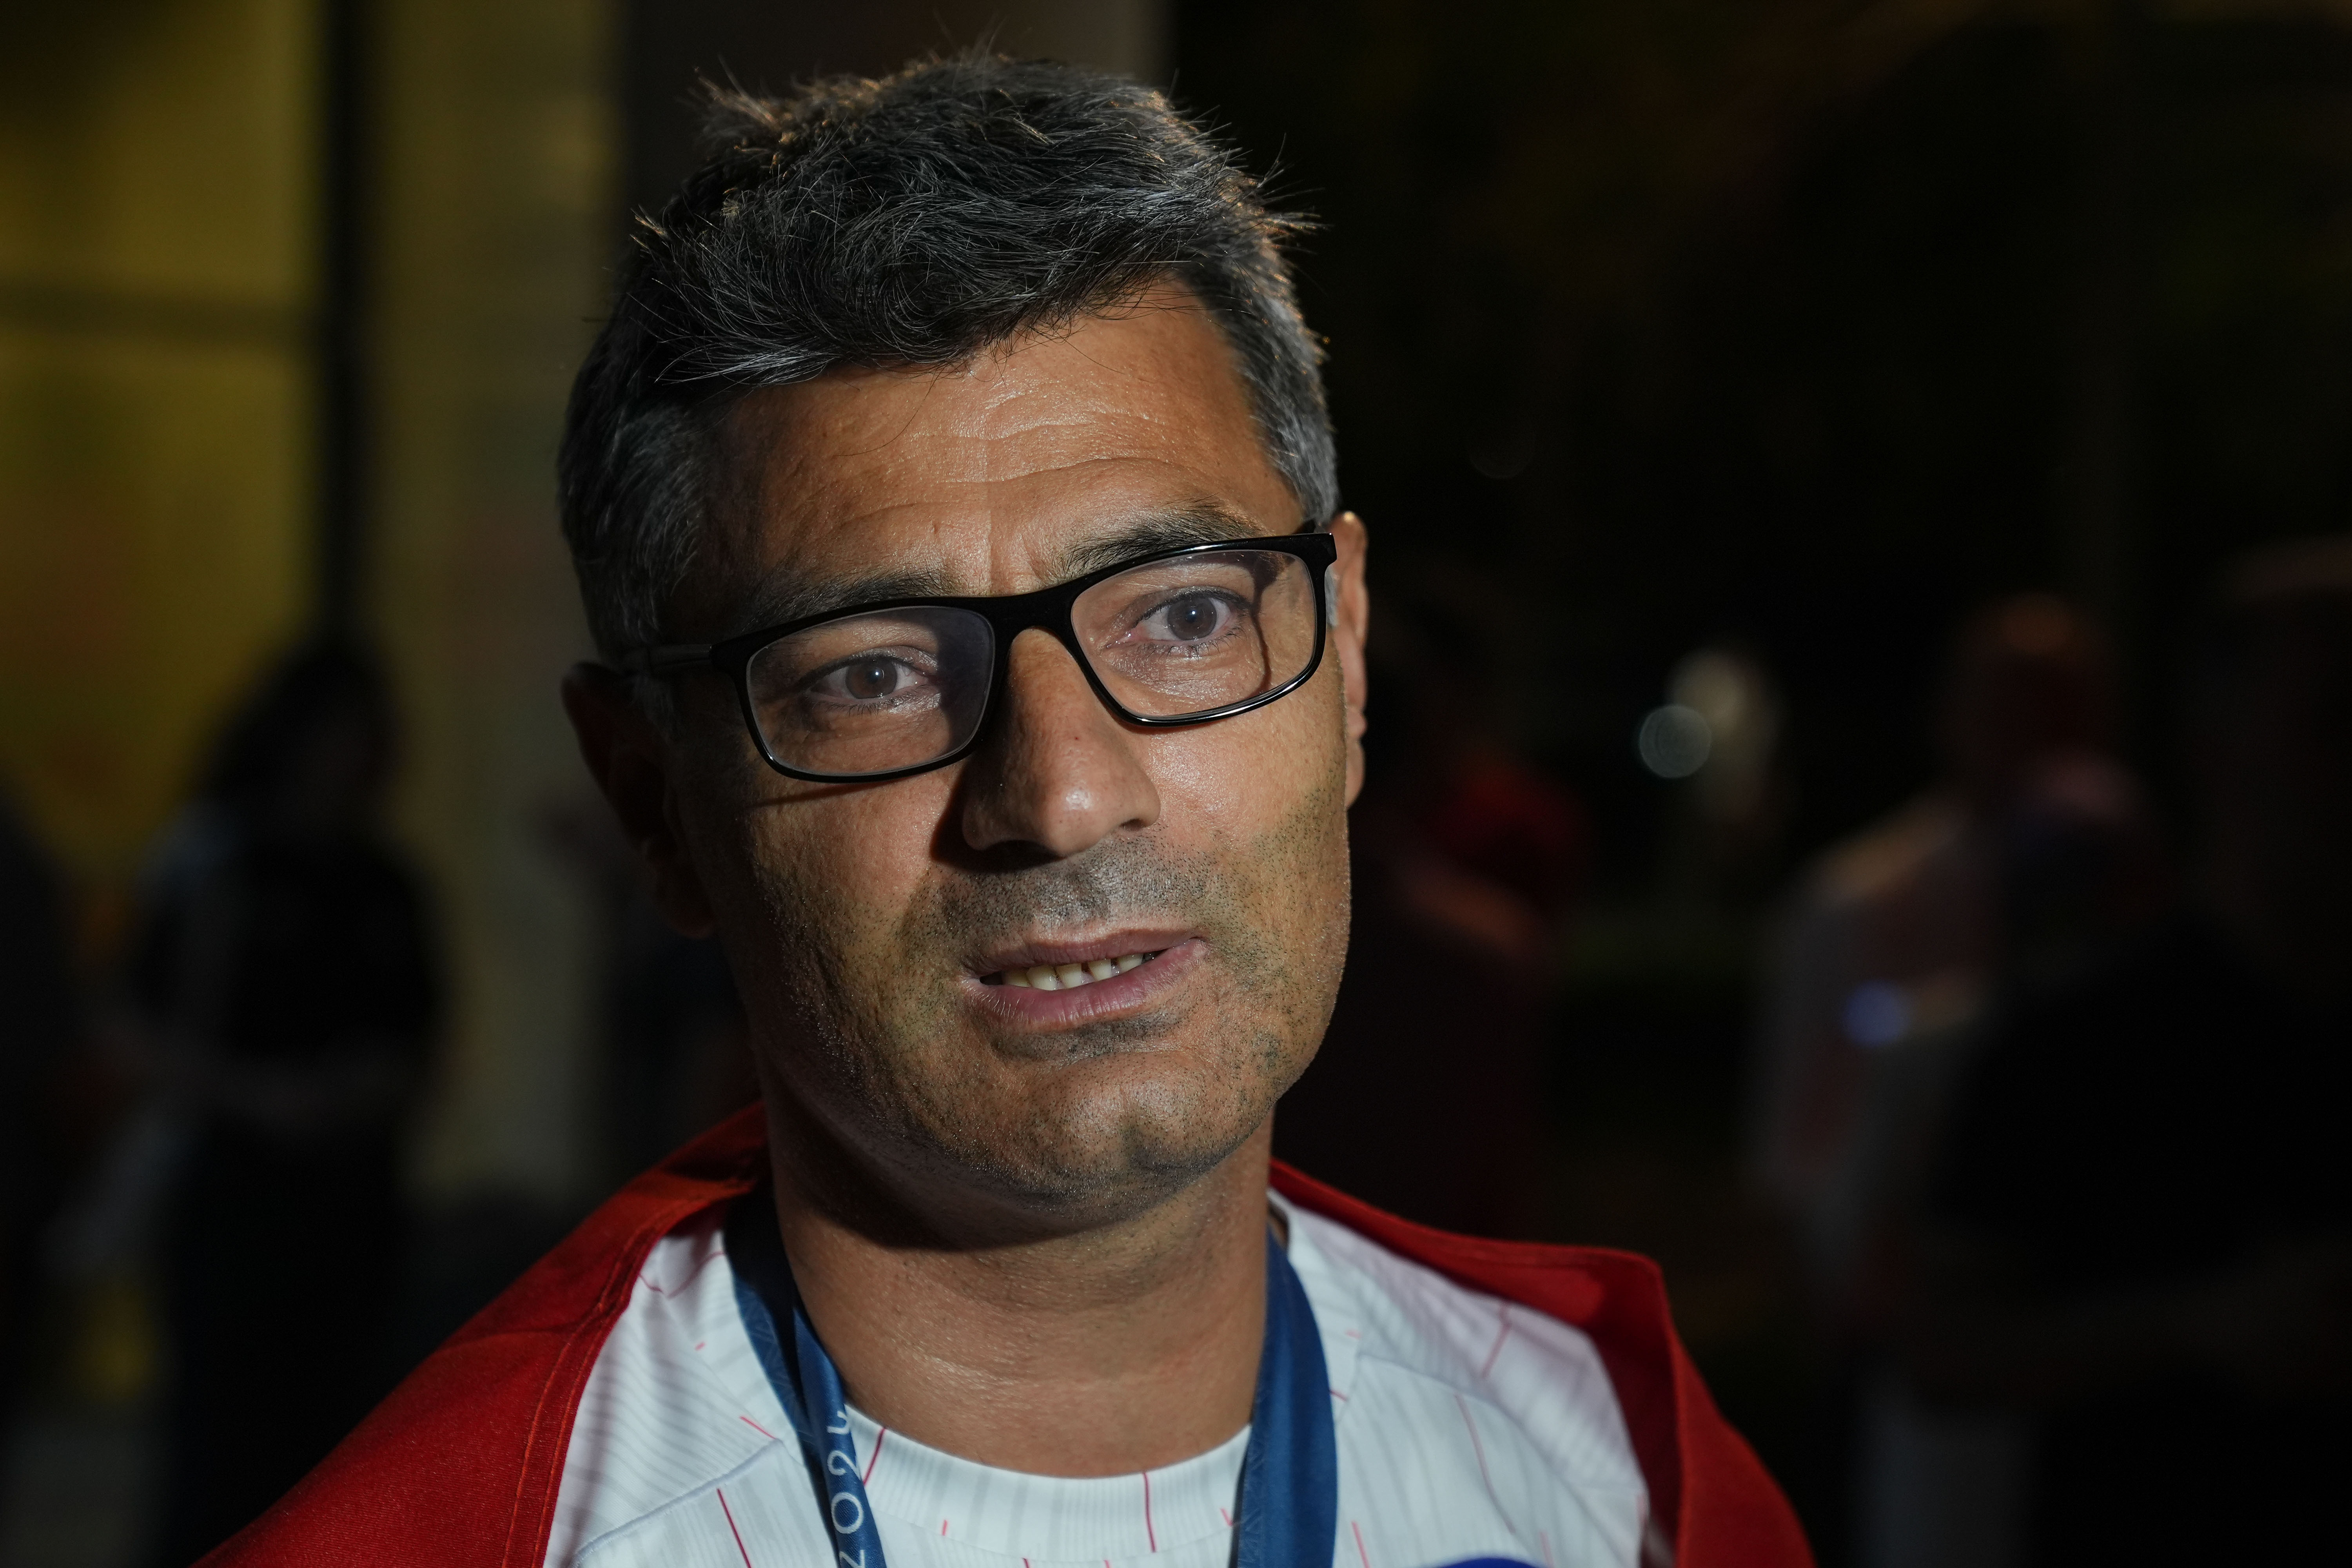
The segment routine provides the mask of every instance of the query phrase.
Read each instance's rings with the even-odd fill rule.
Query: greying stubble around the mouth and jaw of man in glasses
[[[1336,790],[1211,853],[1136,835],[943,867],[896,919],[814,882],[762,877],[776,964],[746,1001],[767,1091],[887,1187],[946,1185],[1054,1229],[1141,1213],[1247,1143],[1312,1060],[1348,945]],[[969,954],[1080,922],[1188,926],[1209,964],[1176,1001],[1049,1037],[969,1011]]]

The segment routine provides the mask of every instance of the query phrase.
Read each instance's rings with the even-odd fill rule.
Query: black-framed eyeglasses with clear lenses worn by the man
[[[903,778],[969,752],[1004,691],[1014,637],[1070,649],[1129,724],[1207,724],[1296,691],[1338,616],[1331,534],[1160,550],[1002,597],[884,599],[727,642],[637,649],[640,675],[734,679],[760,755],[818,783]]]

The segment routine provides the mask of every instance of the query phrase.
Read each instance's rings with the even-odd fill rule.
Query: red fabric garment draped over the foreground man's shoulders
[[[644,1255],[689,1215],[748,1192],[764,1164],[767,1124],[753,1107],[633,1180],[205,1563],[539,1568],[588,1368]],[[1646,1258],[1451,1237],[1279,1164],[1275,1190],[1392,1253],[1581,1328],[1616,1382],[1651,1514],[1672,1523],[1677,1568],[1811,1566],[1780,1490],[1682,1352]]]

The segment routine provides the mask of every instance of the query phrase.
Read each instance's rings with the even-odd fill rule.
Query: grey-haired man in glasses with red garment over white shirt
[[[1268,1194],[1364,729],[1294,226],[1058,66],[715,141],[574,393],[564,701],[764,1110],[223,1561],[1802,1563],[1646,1265]]]

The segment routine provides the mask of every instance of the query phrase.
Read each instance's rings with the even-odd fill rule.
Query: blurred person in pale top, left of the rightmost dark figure
[[[2049,595],[1985,607],[1945,677],[1943,778],[1828,851],[1783,924],[1755,1164],[1839,1368],[1816,1509],[1853,1530],[1867,1568],[1980,1568],[2016,1537],[2027,1432],[1924,1408],[1886,1363],[1884,1324],[1990,1009],[2161,896],[2150,816],[2105,750],[2110,708],[2105,649],[2077,611]]]

